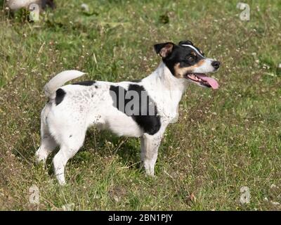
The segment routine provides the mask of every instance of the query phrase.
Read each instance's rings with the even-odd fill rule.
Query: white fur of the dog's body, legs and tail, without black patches
[[[41,146],[37,150],[37,160],[44,162],[48,155],[60,146],[53,158],[55,175],[59,184],[65,184],[65,165],[84,143],[86,130],[92,125],[100,129],[109,129],[119,136],[141,137],[141,159],[145,172],[154,175],[157,151],[167,125],[178,117],[178,103],[188,84],[187,79],[174,77],[164,63],[140,84],[157,105],[161,117],[161,127],[156,134],[145,134],[132,117],[113,106],[110,85],[123,86],[126,89],[132,82],[96,82],[92,86],[63,85],[63,83],[84,75],[76,70],[64,71],[53,77],[45,86],[50,101],[41,112]],[[96,88],[95,86],[98,86]],[[63,89],[66,94],[63,101],[55,105],[55,91]]]

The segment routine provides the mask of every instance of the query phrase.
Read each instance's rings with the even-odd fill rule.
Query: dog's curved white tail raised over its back
[[[65,70],[60,72],[44,86],[45,95],[48,98],[55,98],[55,91],[58,90],[60,86],[63,86],[63,84],[69,82],[71,79],[81,77],[84,74],[84,72],[78,70]]]

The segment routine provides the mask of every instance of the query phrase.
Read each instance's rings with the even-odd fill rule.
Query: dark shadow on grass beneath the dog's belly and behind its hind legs
[[[39,132],[39,126],[34,126],[30,129],[31,133]],[[40,143],[35,143],[32,136],[23,136],[22,139],[15,143],[15,155],[23,162],[29,162],[31,165],[36,165],[35,152],[39,148]],[[69,160],[72,164],[80,164],[81,162],[93,162],[95,160],[95,153],[100,158],[107,158],[117,154],[122,165],[130,166],[134,169],[140,169],[141,164],[141,146],[136,138],[125,138],[115,136],[110,131],[98,131],[98,129],[91,128],[87,131],[84,145],[79,152]],[[46,167],[48,174],[53,174],[53,157],[58,153],[59,147],[53,150],[48,156]]]

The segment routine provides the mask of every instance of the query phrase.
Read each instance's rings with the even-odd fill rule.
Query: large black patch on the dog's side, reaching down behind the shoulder
[[[128,115],[124,109],[126,108],[126,104],[135,101],[133,100],[133,96],[131,98],[126,99],[125,96],[128,91],[136,91],[138,93],[138,102],[136,102],[136,105],[138,105],[138,113],[136,115],[128,115],[133,118],[133,120],[136,121],[136,123],[143,128],[143,131],[147,134],[153,135],[156,134],[157,131],[159,131],[161,127],[161,122],[160,122],[160,117],[157,115],[157,106],[155,105],[154,101],[148,96],[147,91],[143,88],[143,86],[138,85],[138,84],[130,84],[128,90],[124,89],[122,86],[110,86],[110,95],[112,95],[111,91],[115,92],[115,96],[112,96],[114,106],[117,107],[118,110],[122,111],[122,113],[125,113]],[[141,94],[142,91],[145,91],[143,95]],[[119,96],[119,94],[124,93],[124,96]],[[123,94],[122,94],[123,95]],[[143,102],[146,102],[146,105],[142,105],[142,98],[146,97],[143,99]],[[119,98],[122,98],[121,100],[124,101],[124,108],[122,105],[119,103]],[[124,99],[124,100],[123,100]],[[131,110],[133,110],[133,105],[131,106]],[[152,113],[152,115],[149,115],[149,113]]]

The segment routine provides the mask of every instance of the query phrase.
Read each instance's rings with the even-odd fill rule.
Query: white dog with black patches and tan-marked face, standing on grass
[[[164,131],[178,117],[178,103],[188,84],[218,89],[215,72],[220,62],[206,58],[191,41],[155,44],[162,62],[151,75],[131,82],[86,81],[63,86],[84,72],[67,70],[44,87],[49,101],[41,111],[41,146],[37,161],[60,146],[53,158],[55,176],[65,184],[65,165],[84,143],[91,126],[117,136],[141,138],[145,173],[154,176],[157,151]]]

